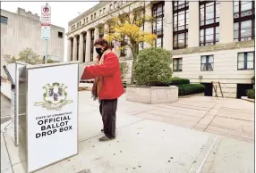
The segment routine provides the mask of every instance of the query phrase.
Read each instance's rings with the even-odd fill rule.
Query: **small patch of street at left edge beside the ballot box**
[[[1,124],[10,119],[11,102],[1,95]]]

